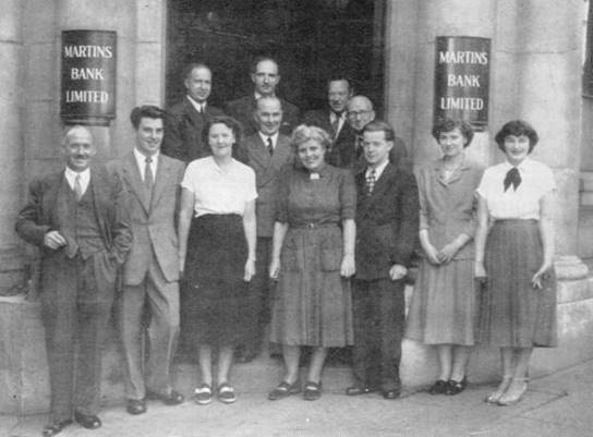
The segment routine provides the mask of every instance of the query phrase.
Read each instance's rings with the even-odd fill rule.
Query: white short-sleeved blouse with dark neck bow
[[[552,169],[545,163],[525,158],[517,167],[521,175],[517,191],[510,185],[505,192],[504,181],[511,168],[508,161],[487,168],[477,194],[486,201],[491,219],[538,220],[540,199],[556,190]]]

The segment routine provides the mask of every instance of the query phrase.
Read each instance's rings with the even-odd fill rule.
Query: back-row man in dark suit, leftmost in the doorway
[[[207,102],[211,90],[213,73],[204,63],[191,63],[185,69],[187,95],[169,108],[166,118],[162,154],[185,162],[210,155],[202,139],[202,131],[213,117],[222,111]]]

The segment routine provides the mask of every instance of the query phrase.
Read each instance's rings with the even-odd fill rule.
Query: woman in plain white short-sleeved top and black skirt
[[[239,122],[216,117],[204,133],[213,155],[190,162],[181,183],[182,329],[197,345],[202,385],[195,389],[195,401],[211,401],[217,348],[216,394],[231,403],[235,400],[229,383],[233,348],[245,341],[243,336],[255,323],[255,313],[249,311],[255,296],[247,282],[255,272],[257,193],[254,171],[232,157]]]

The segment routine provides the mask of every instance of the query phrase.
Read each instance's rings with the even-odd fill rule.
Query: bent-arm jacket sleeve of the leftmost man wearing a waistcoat
[[[29,185],[28,201],[26,206],[16,217],[15,230],[19,236],[27,243],[36,246],[44,246],[44,236],[51,230],[47,223],[43,223],[41,202],[44,197],[44,182],[35,180]]]

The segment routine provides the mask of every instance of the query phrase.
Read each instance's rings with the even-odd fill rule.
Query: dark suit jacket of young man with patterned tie
[[[419,194],[411,170],[388,163],[371,195],[365,170],[356,181],[356,279],[389,277],[394,264],[408,266],[416,248]]]

